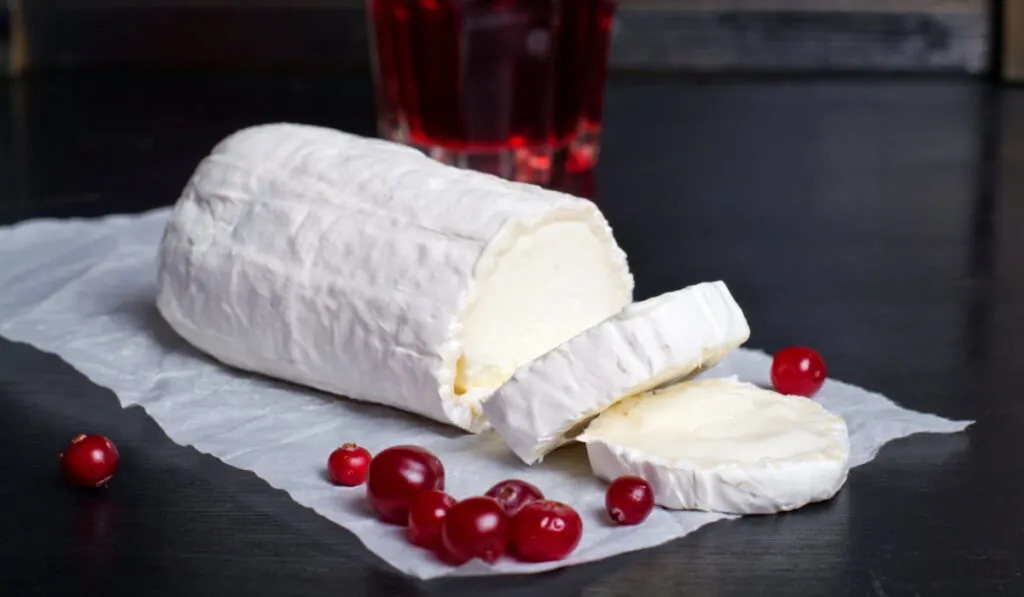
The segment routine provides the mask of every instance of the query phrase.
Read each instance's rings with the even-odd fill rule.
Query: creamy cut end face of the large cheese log
[[[463,313],[456,393],[478,401],[519,366],[628,304],[630,278],[608,242],[579,220],[518,236]]]

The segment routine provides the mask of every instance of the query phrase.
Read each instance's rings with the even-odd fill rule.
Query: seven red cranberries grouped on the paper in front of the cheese
[[[521,479],[506,479],[482,496],[456,500],[444,493],[444,466],[428,450],[394,445],[376,456],[346,443],[328,459],[338,484],[367,484],[377,517],[406,526],[413,545],[459,565],[472,559],[494,563],[506,555],[526,562],[564,559],[580,545],[583,519],[571,506],[545,499]],[[608,515],[638,524],[654,507],[647,481],[622,477],[608,487]]]

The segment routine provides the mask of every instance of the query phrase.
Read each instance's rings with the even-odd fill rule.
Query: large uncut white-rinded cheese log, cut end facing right
[[[158,279],[167,323],[226,365],[470,431],[519,365],[633,292],[589,201],[293,124],[202,161]]]

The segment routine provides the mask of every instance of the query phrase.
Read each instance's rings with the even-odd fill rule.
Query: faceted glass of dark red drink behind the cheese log
[[[367,0],[381,136],[548,184],[597,163],[611,0]]]

